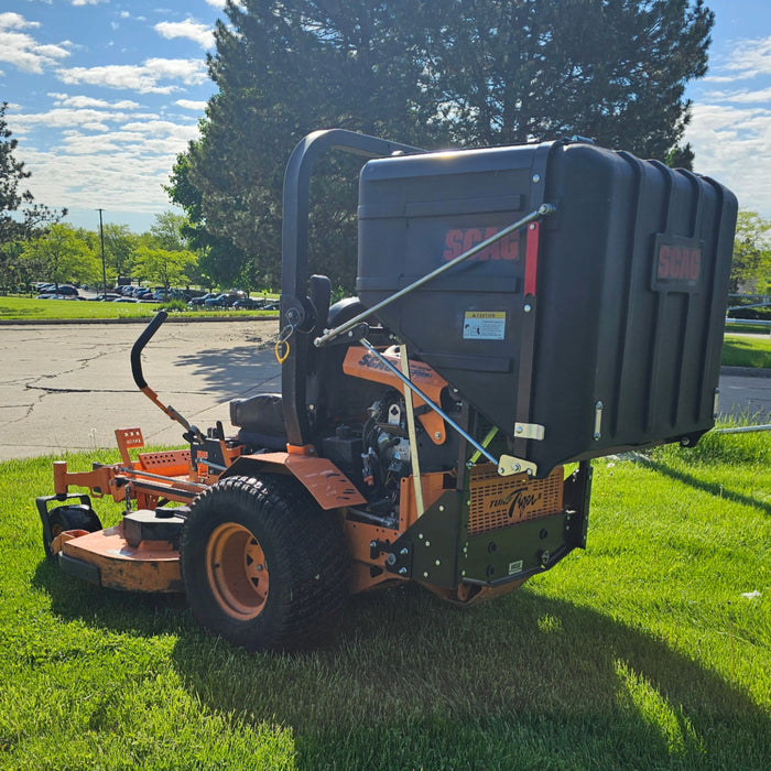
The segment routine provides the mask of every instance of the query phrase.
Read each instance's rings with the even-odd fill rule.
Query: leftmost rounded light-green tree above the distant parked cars
[[[52,225],[25,245],[23,259],[42,279],[55,284],[96,282],[101,263],[96,252],[68,225]]]

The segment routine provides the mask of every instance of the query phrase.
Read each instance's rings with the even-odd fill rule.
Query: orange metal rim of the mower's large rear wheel
[[[228,616],[243,621],[262,612],[270,577],[265,554],[250,530],[235,522],[220,524],[206,544],[206,573]]]

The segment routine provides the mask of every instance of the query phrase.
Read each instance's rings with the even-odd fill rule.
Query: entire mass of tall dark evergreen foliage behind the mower
[[[713,24],[702,0],[243,0],[226,14],[208,62],[218,93],[170,192],[209,272],[250,284],[278,283],[284,164],[310,131],[428,149],[577,133],[687,158],[683,94]],[[323,171],[311,261],[345,284],[355,173],[335,160]]]

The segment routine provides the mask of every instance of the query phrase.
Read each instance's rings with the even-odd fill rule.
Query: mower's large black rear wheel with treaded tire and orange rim
[[[239,541],[245,530],[248,544]],[[180,551],[193,616],[236,645],[303,650],[323,644],[338,627],[348,594],[340,521],[293,478],[229,477],[213,485],[191,504]],[[247,551],[264,555],[267,591]]]

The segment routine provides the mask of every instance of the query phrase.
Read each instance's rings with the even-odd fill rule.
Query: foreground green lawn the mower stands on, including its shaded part
[[[771,437],[595,468],[586,552],[465,611],[355,597],[335,645],[289,656],[61,574],[51,458],[0,465],[0,767],[767,770]]]

